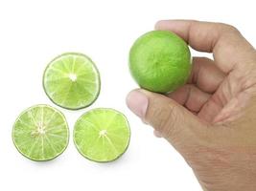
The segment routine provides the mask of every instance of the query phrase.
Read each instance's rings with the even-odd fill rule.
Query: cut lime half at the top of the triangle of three
[[[90,58],[63,53],[46,68],[45,93],[58,106],[78,110],[92,104],[100,93],[100,74]]]

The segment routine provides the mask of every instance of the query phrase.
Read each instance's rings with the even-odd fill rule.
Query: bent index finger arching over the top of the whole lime
[[[244,56],[254,57],[253,47],[234,27],[192,20],[159,21],[156,30],[177,33],[189,45],[201,52],[214,53],[216,64],[224,73],[229,73]]]

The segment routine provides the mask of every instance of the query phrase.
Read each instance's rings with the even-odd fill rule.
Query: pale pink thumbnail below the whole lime
[[[128,108],[138,117],[144,118],[149,105],[149,99],[138,90],[133,90],[127,96]]]

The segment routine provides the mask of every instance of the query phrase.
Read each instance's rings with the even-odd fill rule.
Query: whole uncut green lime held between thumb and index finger
[[[174,32],[147,32],[129,52],[130,73],[141,88],[151,92],[175,91],[186,83],[191,68],[189,47]]]

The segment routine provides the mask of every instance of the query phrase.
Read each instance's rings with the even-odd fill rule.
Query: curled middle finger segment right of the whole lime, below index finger
[[[225,74],[207,57],[194,57],[189,83],[196,84],[206,93],[214,93],[220,86]]]

